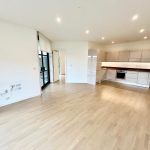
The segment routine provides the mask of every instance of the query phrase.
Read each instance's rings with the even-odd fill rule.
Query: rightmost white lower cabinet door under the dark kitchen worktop
[[[142,84],[142,85],[148,85],[149,84],[149,73],[139,72],[137,83]]]

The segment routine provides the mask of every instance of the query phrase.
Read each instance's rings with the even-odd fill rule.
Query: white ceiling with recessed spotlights
[[[139,19],[133,22],[134,14]],[[61,24],[56,22],[58,16]],[[0,0],[0,18],[39,30],[52,41],[108,44],[150,36],[150,0]],[[145,33],[139,34],[141,28]]]

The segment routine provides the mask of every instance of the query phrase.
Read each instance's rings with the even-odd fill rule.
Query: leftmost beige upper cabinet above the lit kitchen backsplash
[[[106,53],[106,61],[108,62],[116,62],[118,61],[119,52],[107,52]]]

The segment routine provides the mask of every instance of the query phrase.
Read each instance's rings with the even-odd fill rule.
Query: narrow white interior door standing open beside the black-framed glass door
[[[59,80],[59,52],[53,51],[54,82]]]

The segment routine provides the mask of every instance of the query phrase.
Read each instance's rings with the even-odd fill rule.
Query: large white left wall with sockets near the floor
[[[0,106],[41,94],[35,30],[0,22]]]

